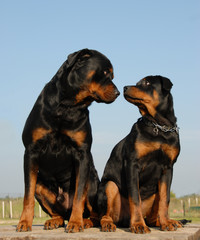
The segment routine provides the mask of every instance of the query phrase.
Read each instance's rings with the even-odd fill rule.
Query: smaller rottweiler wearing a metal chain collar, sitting
[[[98,193],[102,231],[115,231],[115,224],[130,226],[134,233],[149,233],[148,226],[168,231],[181,227],[168,217],[173,165],[180,151],[171,87],[162,76],[124,87],[125,99],[142,117],[106,164]]]

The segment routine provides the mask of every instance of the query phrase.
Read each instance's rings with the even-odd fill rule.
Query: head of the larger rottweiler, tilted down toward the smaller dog
[[[98,51],[83,49],[68,56],[57,72],[63,92],[71,95],[75,104],[92,101],[111,103],[119,95],[112,82],[111,62]]]

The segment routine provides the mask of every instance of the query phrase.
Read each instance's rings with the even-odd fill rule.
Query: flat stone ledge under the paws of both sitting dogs
[[[175,232],[162,232],[151,228],[150,234],[133,234],[128,228],[117,228],[116,232],[105,233],[99,228],[86,229],[81,233],[65,233],[64,228],[55,230],[43,230],[42,225],[33,225],[32,232],[15,231],[16,226],[0,226],[0,240],[35,240],[35,239],[59,239],[59,240],[200,240],[200,225],[188,224]]]

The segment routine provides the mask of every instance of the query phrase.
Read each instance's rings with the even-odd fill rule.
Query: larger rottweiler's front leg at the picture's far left
[[[24,180],[25,180],[24,206],[19,224],[17,225],[16,229],[17,232],[25,232],[32,230],[35,205],[34,195],[37,174],[38,165],[35,162],[35,156],[30,154],[26,150],[24,154]]]

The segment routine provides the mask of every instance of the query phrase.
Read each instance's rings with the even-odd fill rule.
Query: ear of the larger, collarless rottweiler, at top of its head
[[[92,52],[87,48],[70,54],[67,58],[67,68],[72,68],[78,60],[89,58],[91,55]]]

